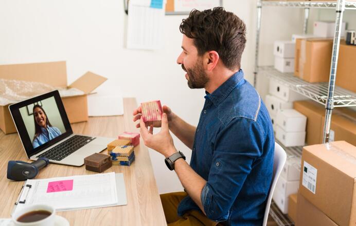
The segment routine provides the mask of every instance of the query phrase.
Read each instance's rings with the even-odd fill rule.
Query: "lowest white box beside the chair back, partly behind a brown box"
[[[283,214],[288,213],[288,197],[298,192],[299,181],[286,181],[279,177],[273,193],[273,200]]]

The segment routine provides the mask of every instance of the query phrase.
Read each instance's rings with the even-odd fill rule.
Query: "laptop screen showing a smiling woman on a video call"
[[[58,91],[9,108],[28,157],[73,133]]]

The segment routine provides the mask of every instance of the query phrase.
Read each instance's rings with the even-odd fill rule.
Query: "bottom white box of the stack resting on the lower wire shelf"
[[[279,140],[284,147],[304,146],[305,135],[305,131],[286,132],[281,127],[276,125],[276,139]]]

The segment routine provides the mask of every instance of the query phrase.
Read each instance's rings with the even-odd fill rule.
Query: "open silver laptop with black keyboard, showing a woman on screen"
[[[84,165],[84,158],[106,149],[114,138],[73,134],[58,90],[9,106],[26,155],[31,160]]]

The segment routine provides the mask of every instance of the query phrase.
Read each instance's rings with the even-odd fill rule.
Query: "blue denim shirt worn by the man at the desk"
[[[204,211],[227,225],[262,225],[273,173],[270,115],[242,70],[206,94],[190,160],[207,181],[201,194]],[[189,196],[178,215],[188,210],[200,210]]]

